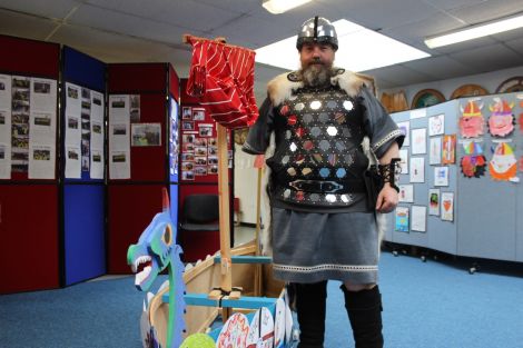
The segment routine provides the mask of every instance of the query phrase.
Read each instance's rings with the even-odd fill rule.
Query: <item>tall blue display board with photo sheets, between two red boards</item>
[[[106,63],[63,47],[62,69],[61,261],[69,286],[106,274]]]

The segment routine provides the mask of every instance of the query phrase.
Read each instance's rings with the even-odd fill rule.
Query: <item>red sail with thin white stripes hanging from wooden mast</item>
[[[235,129],[258,118],[254,96],[253,50],[208,39],[188,37],[193,46],[187,93],[200,98],[214,120]]]

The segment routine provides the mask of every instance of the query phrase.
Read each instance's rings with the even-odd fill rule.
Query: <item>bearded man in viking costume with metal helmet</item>
[[[356,347],[383,347],[376,212],[397,205],[404,137],[365,80],[333,67],[338,42],[327,19],[305,21],[296,47],[302,69],[268,83],[244,145],[265,153],[274,132],[267,159],[274,275],[295,290],[298,347],[323,347],[328,279],[343,282]],[[379,161],[383,188],[374,196],[364,139]]]

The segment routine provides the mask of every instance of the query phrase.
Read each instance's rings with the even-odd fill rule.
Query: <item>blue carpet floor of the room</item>
[[[521,268],[521,266],[519,266]],[[382,255],[387,348],[523,347],[523,276]],[[139,348],[134,278],[0,296],[0,347]],[[326,348],[352,348],[339,282],[328,286]]]

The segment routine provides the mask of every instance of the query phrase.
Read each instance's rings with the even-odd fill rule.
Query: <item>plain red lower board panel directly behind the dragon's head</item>
[[[108,272],[130,274],[127,249],[161,211],[164,185],[110,185],[108,190]]]

